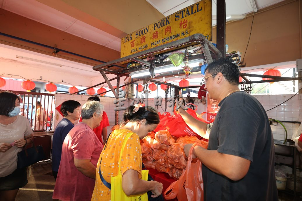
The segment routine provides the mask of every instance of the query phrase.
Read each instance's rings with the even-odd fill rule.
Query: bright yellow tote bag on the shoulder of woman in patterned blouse
[[[126,135],[126,138],[122,145],[122,149],[120,152],[118,174],[115,177],[111,177],[111,201],[148,201],[147,192],[144,194],[140,194],[140,195],[127,196],[124,193],[124,190],[122,188],[122,174],[120,174],[120,161],[122,158],[122,152],[127,143],[127,139],[130,137],[130,135],[132,135],[132,133],[128,133]],[[145,181],[148,180],[148,173],[149,173],[149,170],[142,170],[142,179],[143,180],[145,180]]]

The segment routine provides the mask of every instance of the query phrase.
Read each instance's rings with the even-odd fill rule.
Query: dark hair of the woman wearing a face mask
[[[16,99],[20,101],[19,96],[14,93],[0,92],[0,115],[9,116],[8,113],[13,111]]]

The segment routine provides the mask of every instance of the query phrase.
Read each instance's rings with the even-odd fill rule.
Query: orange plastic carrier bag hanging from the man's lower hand
[[[196,144],[192,146],[189,152],[187,168],[182,172],[179,180],[173,182],[165,191],[165,199],[174,199],[177,197],[181,201],[204,199],[204,183],[201,174],[201,162],[191,163],[192,151]],[[187,181],[187,182],[186,182]]]

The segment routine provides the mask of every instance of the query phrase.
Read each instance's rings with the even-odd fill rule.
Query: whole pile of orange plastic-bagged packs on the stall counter
[[[191,143],[197,143],[205,149],[208,145],[194,136],[177,138],[167,130],[150,132],[141,140],[143,163],[146,168],[166,172],[170,177],[178,179],[187,165],[184,146]]]

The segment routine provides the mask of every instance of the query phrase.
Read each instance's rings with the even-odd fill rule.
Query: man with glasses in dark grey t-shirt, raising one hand
[[[179,112],[188,126],[209,139],[208,149],[193,150],[203,163],[204,200],[277,201],[274,140],[264,108],[240,92],[239,69],[228,59],[209,64],[203,81],[210,99],[220,101],[209,136],[206,124],[183,108]],[[186,155],[191,146],[185,146]]]

